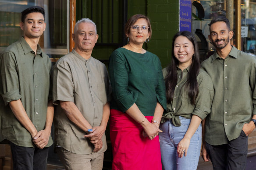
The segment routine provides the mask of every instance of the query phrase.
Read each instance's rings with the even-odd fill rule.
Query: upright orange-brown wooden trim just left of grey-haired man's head
[[[69,1],[69,52],[75,47],[75,42],[72,38],[72,33],[75,28],[75,2],[76,0]]]

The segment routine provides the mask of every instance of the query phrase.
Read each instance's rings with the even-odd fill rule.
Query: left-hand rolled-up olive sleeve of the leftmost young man
[[[0,58],[0,64],[0,93],[4,99],[4,104],[7,105],[9,102],[21,98],[19,91],[17,63],[14,54],[4,52]]]

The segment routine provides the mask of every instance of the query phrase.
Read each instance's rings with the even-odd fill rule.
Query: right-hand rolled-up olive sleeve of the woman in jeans
[[[197,115],[202,120],[211,111],[211,105],[213,101],[213,83],[209,75],[201,77],[198,85],[198,96],[196,98],[196,105],[192,114]]]

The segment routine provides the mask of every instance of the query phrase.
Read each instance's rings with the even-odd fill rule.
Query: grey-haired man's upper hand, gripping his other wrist
[[[88,135],[84,135],[84,137],[89,138],[93,144],[96,144],[101,140],[105,130],[106,127],[96,126],[92,128],[92,132],[90,132]]]

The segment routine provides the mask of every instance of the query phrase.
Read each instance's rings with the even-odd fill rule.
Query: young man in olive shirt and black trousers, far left
[[[14,170],[44,170],[53,143],[51,62],[38,45],[44,15],[41,7],[22,11],[23,37],[0,56],[0,140],[11,144]]]

